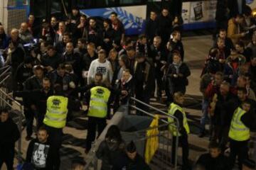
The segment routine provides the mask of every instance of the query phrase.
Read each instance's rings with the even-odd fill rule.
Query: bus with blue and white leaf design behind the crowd
[[[169,8],[171,16],[181,16],[182,1],[177,0],[31,0],[31,13],[38,21],[50,16],[65,18],[73,6],[80,8],[80,13],[97,18],[109,18],[113,11],[124,24],[127,35],[138,35],[144,32],[146,16],[151,10],[160,12]],[[177,7],[178,6],[178,7]]]

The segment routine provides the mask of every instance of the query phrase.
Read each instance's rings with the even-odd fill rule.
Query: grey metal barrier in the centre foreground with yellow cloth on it
[[[158,139],[159,139],[158,146],[159,147],[158,147],[158,149],[156,149],[156,152],[155,152],[153,158],[151,159],[151,162],[149,163],[149,165],[152,167],[152,169],[176,169],[177,168],[178,137],[176,137],[175,146],[172,146],[171,145],[172,134],[171,134],[171,132],[169,132],[169,126],[170,125],[175,126],[176,130],[178,130],[178,127],[179,127],[178,119],[175,118],[173,115],[169,115],[168,113],[165,113],[164,111],[159,110],[158,108],[154,108],[142,101],[137,100],[137,98],[132,97],[132,98],[130,98],[130,101],[140,103],[146,107],[151,108],[151,110],[153,110],[154,112],[160,113],[159,126],[149,128],[151,120],[156,118],[155,113],[154,114],[149,113],[148,111],[144,111],[141,108],[138,108],[137,106],[134,106],[134,105],[121,106],[120,108],[122,108],[122,111],[117,111],[117,113],[114,114],[113,118],[110,120],[110,123],[107,125],[105,130],[102,132],[100,137],[92,145],[92,149],[87,154],[87,158],[86,158],[87,164],[85,166],[85,170],[90,170],[90,169],[97,170],[98,161],[97,161],[95,152],[96,152],[97,148],[99,147],[100,142],[102,142],[105,139],[105,134],[107,132],[107,129],[110,127],[110,125],[117,125],[120,128],[120,126],[122,126],[122,124],[123,124],[122,119],[124,119],[125,116],[127,116],[127,117],[132,116],[132,114],[129,114],[129,112],[131,111],[131,109],[129,109],[129,108],[133,108],[136,111],[140,111],[140,112],[144,113],[145,116],[141,116],[140,118],[150,118],[150,121],[146,127],[142,128],[140,130],[136,130],[135,132],[124,132],[125,130],[120,128],[124,142],[127,142],[127,143],[130,142],[131,141],[130,137],[137,138],[133,141],[137,145],[137,150],[138,150],[139,154],[141,154],[142,157],[144,157],[146,140],[149,140],[154,137],[158,137]],[[130,103],[132,103],[132,102],[130,102]],[[166,118],[173,118],[174,123],[169,123],[166,120]],[[154,129],[159,130],[159,133],[157,135],[151,135],[151,136],[146,135],[146,132],[148,130],[154,130]],[[171,160],[172,160],[171,148],[172,147],[175,147],[175,149],[176,149],[174,164],[171,164]]]

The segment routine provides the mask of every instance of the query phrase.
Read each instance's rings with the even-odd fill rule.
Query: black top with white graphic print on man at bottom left
[[[53,149],[49,142],[41,143],[38,139],[31,140],[26,153],[26,163],[36,170],[52,170],[54,166]]]

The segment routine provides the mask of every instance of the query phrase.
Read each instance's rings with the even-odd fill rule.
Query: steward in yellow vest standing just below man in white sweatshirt
[[[112,101],[111,91],[104,84],[102,84],[102,74],[97,72],[95,74],[97,79],[96,86],[92,86],[85,93],[85,101],[88,106],[88,129],[86,139],[85,153],[90,151],[92,141],[95,140],[96,128],[98,135],[104,130],[107,115],[110,113],[110,102]]]

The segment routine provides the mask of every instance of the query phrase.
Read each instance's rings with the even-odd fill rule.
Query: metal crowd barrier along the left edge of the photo
[[[11,67],[10,66],[6,66],[6,67],[2,67],[0,69],[0,106],[1,107],[5,107],[5,106],[9,106],[12,110],[19,110],[19,114],[18,114],[18,122],[16,122],[16,124],[18,125],[18,130],[22,131],[22,118],[23,118],[23,107],[21,105],[21,103],[18,103],[17,101],[14,100],[14,98],[12,98],[8,92],[9,92],[9,87],[7,86],[6,81],[11,77]],[[18,142],[17,142],[17,158],[18,158],[18,162],[21,163],[22,162],[22,156],[21,156],[21,137],[19,138]]]

